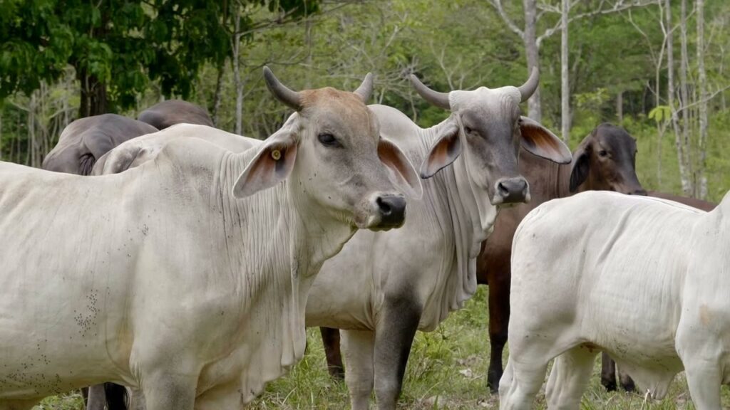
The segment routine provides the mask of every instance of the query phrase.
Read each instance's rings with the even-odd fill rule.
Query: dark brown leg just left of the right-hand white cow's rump
[[[489,276],[489,371],[487,386],[492,394],[499,389],[502,378],[502,352],[507,343],[507,330],[510,322],[510,267],[507,271],[493,270]]]

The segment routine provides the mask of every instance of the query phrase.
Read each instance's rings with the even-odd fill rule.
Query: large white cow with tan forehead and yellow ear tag
[[[356,93],[296,92],[261,147],[183,138],[101,177],[0,163],[0,409],[99,382],[149,410],[235,409],[304,353],[320,266],[403,223],[420,181]],[[270,188],[270,189],[267,189]]]

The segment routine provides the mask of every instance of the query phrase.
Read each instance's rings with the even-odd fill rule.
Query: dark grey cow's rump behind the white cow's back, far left
[[[64,128],[58,144],[43,159],[42,168],[88,175],[101,155],[128,139],[157,131],[152,125],[116,114],[80,118]]]

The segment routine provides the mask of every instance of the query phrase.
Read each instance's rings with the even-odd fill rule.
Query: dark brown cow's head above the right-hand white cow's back
[[[646,195],[636,172],[637,143],[608,123],[597,126],[575,150],[570,172],[570,192],[612,190]]]

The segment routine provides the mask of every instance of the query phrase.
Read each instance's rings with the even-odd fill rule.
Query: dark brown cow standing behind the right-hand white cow
[[[477,259],[477,280],[489,284],[489,336],[491,361],[488,383],[493,392],[502,376],[502,351],[507,342],[510,317],[510,257],[512,236],[525,215],[539,204],[584,190],[614,190],[646,195],[635,170],[636,141],[623,128],[610,124],[596,127],[573,152],[573,162],[558,165],[520,150],[519,169],[530,184],[529,204],[503,209],[494,231],[482,244]],[[321,329],[328,369],[342,377],[337,329]]]

